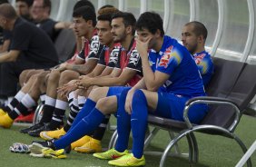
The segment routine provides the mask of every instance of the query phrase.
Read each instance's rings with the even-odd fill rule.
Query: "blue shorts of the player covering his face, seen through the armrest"
[[[188,97],[178,96],[173,93],[158,92],[158,103],[154,115],[164,118],[171,118],[178,121],[183,120],[183,110]],[[200,123],[208,112],[207,104],[194,104],[189,110],[191,123]]]

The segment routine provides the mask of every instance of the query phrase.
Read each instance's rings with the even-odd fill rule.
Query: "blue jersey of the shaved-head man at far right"
[[[202,82],[205,86],[211,80],[214,69],[211,55],[206,51],[202,51],[201,53],[196,53],[192,56],[195,64],[198,66],[200,74],[202,75]]]

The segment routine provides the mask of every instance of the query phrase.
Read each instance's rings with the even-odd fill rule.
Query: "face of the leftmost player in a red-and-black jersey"
[[[84,20],[84,18],[81,17],[74,17],[73,18],[73,28],[74,33],[79,36],[85,36],[85,34],[88,33],[88,23]]]

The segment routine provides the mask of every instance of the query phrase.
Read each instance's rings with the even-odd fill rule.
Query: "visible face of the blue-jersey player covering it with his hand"
[[[137,30],[137,38],[143,43],[147,42],[150,39],[148,48],[154,48],[156,45],[156,34],[150,33],[147,29],[143,28],[142,30]]]

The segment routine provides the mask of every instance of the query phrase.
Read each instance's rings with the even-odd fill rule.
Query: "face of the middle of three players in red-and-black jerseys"
[[[109,21],[99,20],[96,25],[100,43],[103,45],[111,44],[113,35],[111,34],[111,26]]]

